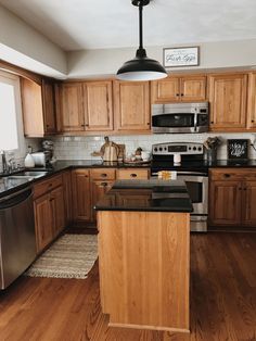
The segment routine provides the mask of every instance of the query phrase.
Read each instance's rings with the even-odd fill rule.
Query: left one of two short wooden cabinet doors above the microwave
[[[180,78],[167,77],[151,83],[152,103],[177,102],[180,100]]]

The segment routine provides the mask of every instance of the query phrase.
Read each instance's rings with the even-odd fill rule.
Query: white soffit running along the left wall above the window
[[[12,52],[9,59],[8,49]],[[14,51],[17,53],[15,54]],[[16,15],[0,5],[0,59],[40,73],[40,64],[56,77],[67,72],[66,53]],[[33,64],[33,61],[38,63]],[[22,63],[22,64],[21,64]],[[35,70],[36,68],[36,70]],[[42,74],[46,70],[42,68]],[[54,73],[56,72],[56,73]]]

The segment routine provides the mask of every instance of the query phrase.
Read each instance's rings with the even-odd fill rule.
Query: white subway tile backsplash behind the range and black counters
[[[162,142],[200,142],[203,143],[208,137],[218,136],[221,144],[218,148],[217,157],[227,159],[227,139],[248,139],[249,143],[256,139],[256,134],[165,134],[165,135],[135,135],[135,136],[110,136],[116,143],[126,146],[126,153],[132,153],[138,147],[151,151],[152,144]],[[54,156],[57,160],[89,160],[100,159],[91,156],[93,151],[99,151],[104,143],[104,137],[55,137]],[[248,157],[256,159],[256,151],[249,147]]]

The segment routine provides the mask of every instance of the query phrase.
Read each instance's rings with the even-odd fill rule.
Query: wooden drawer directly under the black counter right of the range
[[[256,169],[255,168],[221,168],[210,171],[212,180],[256,180]]]

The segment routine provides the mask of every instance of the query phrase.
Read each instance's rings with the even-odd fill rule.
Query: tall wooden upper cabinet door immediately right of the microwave
[[[209,76],[212,130],[245,130],[246,86],[244,74]]]

